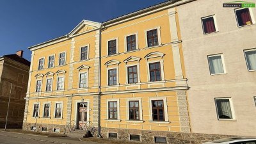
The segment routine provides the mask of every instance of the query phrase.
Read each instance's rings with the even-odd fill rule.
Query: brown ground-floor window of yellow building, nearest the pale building
[[[152,118],[153,120],[164,121],[163,100],[152,100]]]

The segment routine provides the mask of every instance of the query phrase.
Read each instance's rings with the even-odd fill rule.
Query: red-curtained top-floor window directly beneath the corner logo
[[[235,12],[238,26],[253,24],[249,8],[235,10]]]

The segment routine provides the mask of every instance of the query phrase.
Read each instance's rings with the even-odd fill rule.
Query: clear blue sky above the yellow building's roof
[[[104,22],[165,0],[0,0],[0,56],[66,35],[81,22]]]

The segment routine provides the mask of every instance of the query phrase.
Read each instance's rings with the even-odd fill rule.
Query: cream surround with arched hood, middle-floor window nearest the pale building
[[[162,52],[150,52],[145,56],[145,59],[147,60],[147,77],[148,77],[148,82],[150,82],[150,69],[149,65],[150,63],[160,63],[160,68],[161,68],[161,81],[164,81],[164,60],[163,60],[164,54]],[[159,60],[152,60],[152,58],[158,58]],[[152,81],[151,83],[155,83],[157,81]]]

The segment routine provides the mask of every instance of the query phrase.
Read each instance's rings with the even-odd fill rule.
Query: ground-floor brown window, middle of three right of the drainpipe
[[[129,101],[129,120],[140,120],[139,101]]]

